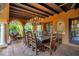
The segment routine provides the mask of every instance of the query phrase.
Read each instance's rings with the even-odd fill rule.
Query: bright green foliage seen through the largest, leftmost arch
[[[9,24],[9,31],[10,31],[9,33],[10,34],[19,33],[22,36],[23,35],[22,30],[23,30],[22,25],[17,22],[13,22],[13,23]]]

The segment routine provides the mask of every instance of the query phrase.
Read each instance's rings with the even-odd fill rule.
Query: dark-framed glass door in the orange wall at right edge
[[[69,19],[70,42],[79,45],[79,18]]]

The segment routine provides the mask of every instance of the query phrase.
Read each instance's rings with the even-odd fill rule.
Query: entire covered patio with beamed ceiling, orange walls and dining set
[[[0,55],[79,56],[79,3],[0,7]]]

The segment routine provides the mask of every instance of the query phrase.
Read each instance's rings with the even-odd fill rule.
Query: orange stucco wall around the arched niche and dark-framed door
[[[63,43],[79,47],[78,45],[69,43],[69,18],[76,18],[76,17],[79,17],[79,8],[69,10],[68,12],[55,14],[54,16],[49,16],[45,18],[43,22],[45,23],[52,22],[54,31],[57,31],[57,22],[63,21],[65,24],[65,30],[63,33]]]

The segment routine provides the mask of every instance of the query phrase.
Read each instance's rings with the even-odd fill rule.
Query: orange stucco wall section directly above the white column
[[[9,4],[3,3],[3,9],[0,11],[0,22],[7,23],[9,20]]]

